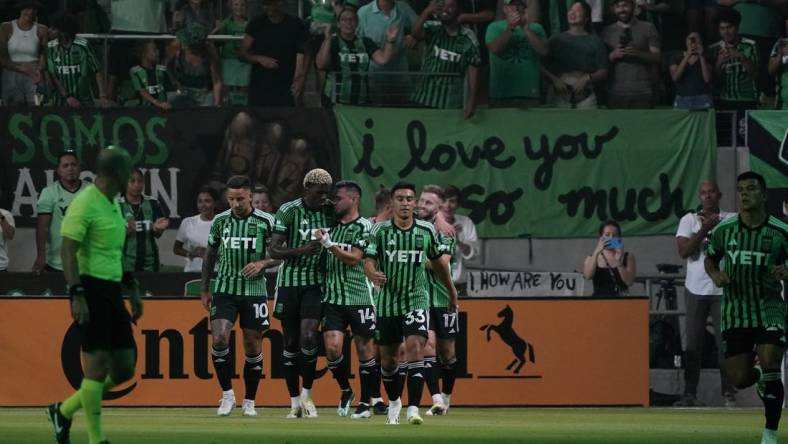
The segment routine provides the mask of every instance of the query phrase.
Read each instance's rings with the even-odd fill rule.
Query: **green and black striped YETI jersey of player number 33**
[[[447,253],[435,227],[422,220],[407,230],[388,220],[375,224],[364,254],[375,258],[386,283],[377,295],[378,317],[400,316],[430,308],[426,262]]]

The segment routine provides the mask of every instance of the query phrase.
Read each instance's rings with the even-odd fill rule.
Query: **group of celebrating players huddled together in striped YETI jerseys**
[[[211,353],[223,392],[217,414],[229,415],[236,406],[228,355],[230,332],[239,319],[246,353],[241,409],[245,416],[257,415],[261,342],[270,324],[265,270],[280,261],[273,316],[282,324],[291,402],[287,418],[318,415],[311,391],[321,334],[328,368],[340,389],[337,413],[350,414],[355,394],[342,351],[348,327],[361,383],[351,418],[386,414],[387,424],[399,424],[401,393],[407,387],[407,421],[421,424],[425,382],[433,395],[427,414],[445,413],[454,386],[459,329],[450,273],[456,240],[451,230],[439,233],[433,225],[443,200],[441,188],[427,186],[417,200],[413,184],[395,184],[392,218],[373,224],[359,215],[362,190],[357,183],[333,183],[328,172],[315,169],[306,174],[303,186],[303,197],[283,204],[274,216],[252,208],[247,177],[227,182],[230,209],[213,221],[202,272],[202,302],[210,312]],[[414,218],[417,205],[421,219]],[[388,408],[381,398],[381,379]]]

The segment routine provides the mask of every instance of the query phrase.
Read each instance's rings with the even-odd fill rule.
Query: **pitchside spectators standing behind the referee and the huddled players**
[[[60,224],[65,210],[76,195],[87,187],[88,182],[79,179],[81,166],[76,153],[64,151],[58,156],[55,169],[57,180],[44,188],[37,202],[36,260],[32,271],[62,272]],[[464,291],[467,271],[463,262],[479,254],[479,238],[476,226],[470,218],[457,214],[460,206],[460,190],[455,186],[442,188],[445,205],[436,216],[439,226],[457,237],[457,250],[452,263],[452,278]],[[392,217],[391,193],[381,189],[374,197],[375,213],[368,215],[371,222],[383,222]],[[252,207],[276,214],[269,190],[263,185],[252,189]],[[126,271],[160,272],[159,238],[170,228],[163,206],[144,194],[144,175],[139,169],[132,171],[125,192],[120,196],[120,205],[127,221],[124,246],[124,268]],[[184,258],[184,272],[200,272],[208,245],[211,224],[217,214],[228,208],[224,196],[216,188],[204,186],[196,196],[197,214],[180,221],[172,252]],[[0,272],[9,264],[7,241],[14,238],[14,218],[0,208]]]

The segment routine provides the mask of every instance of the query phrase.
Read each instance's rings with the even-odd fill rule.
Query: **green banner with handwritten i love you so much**
[[[454,184],[481,237],[673,234],[716,165],[714,114],[335,110],[342,174],[365,190]],[[371,202],[364,214],[371,212]]]

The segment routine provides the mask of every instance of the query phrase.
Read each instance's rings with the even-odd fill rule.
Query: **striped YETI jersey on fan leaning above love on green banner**
[[[430,108],[462,108],[465,71],[479,66],[479,42],[470,28],[460,27],[449,35],[440,22],[424,24],[425,50],[421,71],[425,74],[411,100]]]

